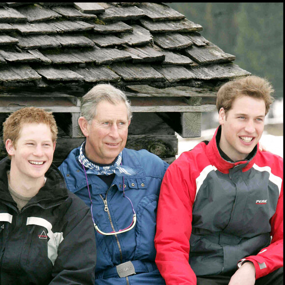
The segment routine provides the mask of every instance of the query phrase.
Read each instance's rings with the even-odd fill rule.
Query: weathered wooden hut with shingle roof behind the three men
[[[200,137],[201,114],[216,110],[219,85],[250,74],[190,20],[163,3],[1,2],[0,123],[25,106],[53,112],[58,166],[84,141],[80,98],[110,83],[131,101],[126,146],[171,163],[175,132]]]

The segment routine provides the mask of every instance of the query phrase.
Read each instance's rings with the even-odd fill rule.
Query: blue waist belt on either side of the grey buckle
[[[136,274],[152,272],[157,269],[155,262],[147,262],[141,260],[132,260],[131,262],[132,265],[134,266]],[[119,277],[117,273],[117,266],[95,273],[95,279],[107,279],[111,277]]]

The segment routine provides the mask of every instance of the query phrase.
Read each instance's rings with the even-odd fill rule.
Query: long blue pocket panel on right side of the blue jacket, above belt
[[[154,236],[156,231],[157,201],[157,195],[148,195],[138,205],[136,227],[137,246],[134,259],[155,259]]]

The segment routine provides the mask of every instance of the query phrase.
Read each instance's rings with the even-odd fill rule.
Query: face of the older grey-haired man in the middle
[[[114,105],[108,101],[101,101],[96,111],[96,116],[90,124],[85,117],[78,120],[86,137],[85,153],[96,163],[110,164],[127,142],[130,124],[127,107],[124,102]]]

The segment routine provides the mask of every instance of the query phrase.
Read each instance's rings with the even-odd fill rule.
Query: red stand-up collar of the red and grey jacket
[[[212,165],[215,165],[217,167],[217,169],[223,173],[228,173],[228,171],[232,168],[236,168],[236,169],[240,169],[242,168],[242,171],[247,171],[250,168],[252,168],[252,166],[255,163],[256,160],[256,154],[259,151],[259,143],[257,143],[257,145],[254,148],[254,154],[253,156],[249,159],[249,160],[240,160],[240,161],[236,161],[236,162],[230,162],[225,160],[224,158],[222,158],[218,147],[217,147],[217,141],[216,141],[216,137],[218,132],[221,132],[222,126],[220,125],[216,131],[215,134],[213,136],[213,138],[211,139],[211,141],[208,143],[206,151],[207,151],[207,156],[209,157],[209,160],[211,162]],[[237,167],[239,166],[239,167]]]

